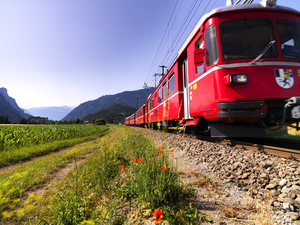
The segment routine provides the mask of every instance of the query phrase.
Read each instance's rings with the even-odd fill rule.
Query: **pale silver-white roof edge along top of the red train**
[[[233,4],[233,5],[227,5],[227,6],[222,6],[222,7],[218,7],[215,8],[213,10],[211,10],[210,12],[206,13],[205,15],[203,15],[200,20],[198,21],[198,23],[195,25],[195,27],[193,28],[193,30],[191,31],[191,33],[189,34],[188,38],[185,40],[184,44],[182,45],[182,47],[180,48],[178,55],[180,55],[182,53],[182,51],[184,50],[184,48],[188,45],[189,41],[192,39],[192,37],[194,36],[194,34],[197,32],[197,30],[200,28],[201,24],[204,23],[204,21],[206,19],[208,19],[211,15],[215,14],[215,13],[220,13],[220,12],[225,12],[225,11],[232,11],[232,10],[241,10],[241,9],[261,9],[261,8],[270,8],[270,9],[281,9],[281,10],[288,10],[288,11],[294,11],[299,13],[299,11],[290,8],[290,7],[286,7],[286,6],[280,6],[280,5],[268,5],[264,2],[264,0],[262,0],[260,3],[258,4]]]

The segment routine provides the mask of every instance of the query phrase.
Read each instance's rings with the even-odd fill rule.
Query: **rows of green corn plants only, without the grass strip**
[[[3,125],[0,126],[0,150],[31,144],[83,137],[108,129],[97,125]]]

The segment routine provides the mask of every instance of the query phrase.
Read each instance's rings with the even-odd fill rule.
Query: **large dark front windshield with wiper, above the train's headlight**
[[[222,55],[226,60],[255,58],[272,40],[275,40],[272,22],[265,18],[246,18],[224,21],[220,24]],[[273,44],[262,57],[276,57]]]

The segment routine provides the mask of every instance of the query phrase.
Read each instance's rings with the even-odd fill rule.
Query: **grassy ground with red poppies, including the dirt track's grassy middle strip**
[[[106,137],[0,173],[2,219],[30,224],[133,224],[153,222],[155,211],[157,221],[198,223],[197,210],[187,202],[193,191],[178,179],[173,149],[154,146],[126,126],[113,129]],[[73,169],[42,196],[30,194],[70,162]]]

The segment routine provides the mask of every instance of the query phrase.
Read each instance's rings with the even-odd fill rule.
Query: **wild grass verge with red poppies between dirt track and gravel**
[[[171,150],[154,146],[128,127],[117,127],[118,139],[112,133],[95,140],[98,150],[84,163],[76,163],[64,179],[52,183],[41,199],[34,196],[30,202],[34,210],[22,201],[21,216],[10,215],[7,204],[1,208],[2,218],[30,224],[131,224],[160,219],[169,224],[198,223],[197,210],[187,201],[193,191],[178,180]],[[76,152],[68,155],[78,161]]]

